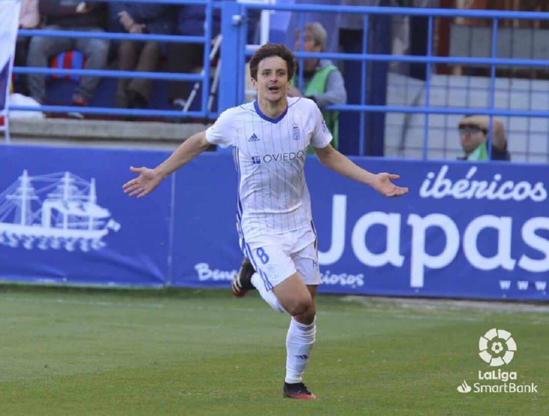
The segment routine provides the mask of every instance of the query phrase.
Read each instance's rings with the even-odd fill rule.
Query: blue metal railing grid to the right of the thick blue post
[[[363,15],[363,39],[361,54],[345,54],[345,53],[312,53],[312,52],[294,52],[295,57],[299,59],[299,85],[302,85],[302,67],[303,60],[307,58],[324,58],[337,60],[355,60],[362,63],[362,80],[361,80],[361,97],[360,104],[340,104],[326,107],[328,110],[352,111],[360,112],[359,124],[359,153],[361,156],[365,154],[365,112],[386,112],[386,113],[423,113],[424,114],[424,138],[423,138],[423,159],[428,156],[428,131],[429,131],[429,114],[486,114],[490,118],[489,123],[489,154],[492,152],[492,118],[495,115],[508,116],[526,116],[526,117],[549,117],[549,111],[522,111],[522,110],[503,110],[495,108],[495,75],[496,66],[498,65],[513,65],[525,67],[549,67],[549,60],[545,59],[508,59],[497,58],[497,29],[498,19],[520,19],[520,20],[549,20],[549,13],[544,12],[507,12],[507,11],[492,11],[492,10],[461,10],[461,9],[427,9],[427,8],[396,8],[396,7],[370,7],[370,6],[343,6],[343,5],[326,5],[326,4],[244,4],[244,18],[248,10],[267,9],[278,11],[298,12],[300,16],[300,45],[303,46],[303,32],[305,27],[304,15],[306,12],[325,12],[325,13],[351,13]],[[408,16],[426,16],[428,18],[428,35],[427,35],[427,54],[425,56],[407,56],[407,55],[383,55],[367,53],[368,48],[368,16],[371,15],[408,15]],[[456,18],[458,16],[467,18],[485,18],[492,19],[491,33],[491,54],[487,58],[467,58],[467,57],[438,57],[433,56],[433,19],[434,18]],[[251,56],[253,52],[242,51],[242,56]],[[367,62],[407,62],[407,63],[424,63],[426,64],[426,81],[425,81],[425,106],[423,107],[407,107],[407,106],[373,106],[366,104],[366,63]],[[490,102],[488,108],[441,108],[432,107],[429,103],[431,80],[432,80],[432,64],[463,64],[463,65],[490,65]],[[242,93],[240,95],[242,97]]]

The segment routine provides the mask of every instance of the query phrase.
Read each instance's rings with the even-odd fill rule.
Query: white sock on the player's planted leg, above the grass
[[[300,324],[294,318],[286,336],[286,378],[287,383],[299,383],[311,356],[315,343],[316,317],[312,324]]]

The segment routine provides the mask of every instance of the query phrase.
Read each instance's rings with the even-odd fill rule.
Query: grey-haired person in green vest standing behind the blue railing
[[[304,52],[323,52],[326,48],[326,29],[320,23],[308,23],[305,25],[305,36],[303,42]],[[295,50],[299,51],[300,31],[295,32]],[[303,68],[303,92],[299,91],[296,85],[299,82],[299,70],[292,79],[292,88],[288,90],[288,96],[305,96],[312,99],[322,110],[324,121],[328,130],[332,133],[332,146],[338,148],[338,118],[339,112],[326,111],[324,107],[329,104],[345,104],[347,92],[337,66],[329,59],[305,59]]]

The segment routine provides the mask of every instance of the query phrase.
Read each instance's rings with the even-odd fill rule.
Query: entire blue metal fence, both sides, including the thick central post
[[[108,0],[112,1],[112,0]],[[138,0],[138,2],[148,2],[149,0]],[[362,6],[343,6],[343,5],[318,5],[318,4],[266,4],[266,3],[238,3],[233,1],[211,1],[211,0],[156,0],[157,3],[166,4],[200,4],[205,7],[206,30],[204,36],[172,36],[172,35],[129,35],[117,33],[89,33],[73,31],[42,31],[42,30],[20,30],[22,36],[74,36],[74,37],[102,37],[113,40],[133,40],[133,41],[161,41],[161,42],[200,42],[204,44],[204,70],[201,74],[172,74],[172,73],[137,73],[128,71],[86,71],[69,69],[49,69],[49,68],[14,68],[15,74],[60,74],[60,75],[94,75],[106,77],[142,77],[158,80],[181,80],[181,81],[199,81],[201,82],[201,108],[199,111],[189,111],[182,113],[169,110],[137,110],[137,109],[113,109],[113,108],[74,108],[68,106],[42,106],[28,108],[13,106],[16,110],[40,110],[46,112],[68,112],[78,110],[81,113],[88,114],[110,114],[110,115],[133,115],[133,116],[190,116],[205,117],[214,119],[217,113],[208,112],[206,103],[209,94],[209,73],[210,73],[210,38],[211,38],[211,18],[212,8],[221,8],[221,34],[223,71],[220,80],[220,101],[219,109],[236,106],[244,99],[244,64],[245,60],[253,53],[252,48],[247,48],[246,39],[248,31],[248,15],[252,10],[275,10],[300,13],[301,26],[301,45],[304,41],[305,13],[352,13],[363,16],[363,38],[362,53],[310,53],[295,52],[296,58],[301,62],[298,72],[298,85],[301,85],[303,79],[302,62],[308,58],[326,58],[337,60],[354,60],[361,63],[360,82],[360,104],[341,104],[329,106],[327,109],[339,110],[343,112],[360,113],[360,125],[358,138],[360,141],[359,153],[365,154],[365,114],[367,112],[383,113],[420,113],[424,114],[424,137],[423,137],[423,159],[428,158],[429,148],[429,116],[431,114],[482,114],[489,115],[490,120],[494,116],[524,116],[534,118],[547,118],[549,111],[546,110],[512,110],[496,108],[495,106],[495,80],[496,67],[498,65],[513,65],[523,67],[549,67],[549,60],[546,59],[511,59],[497,57],[497,33],[498,22],[501,19],[520,19],[520,20],[549,20],[549,13],[541,12],[504,12],[488,10],[456,10],[456,9],[425,9],[425,8],[394,8],[394,7],[362,7]],[[410,55],[390,55],[374,54],[368,52],[368,29],[371,16],[425,16],[428,19],[427,30],[427,53],[425,56]],[[433,56],[433,23],[437,18],[455,18],[463,16],[467,18],[484,18],[492,20],[491,31],[491,53],[485,58],[470,57],[445,57]],[[302,50],[302,48],[301,48]],[[223,53],[223,51],[225,53]],[[425,104],[423,106],[399,106],[399,105],[374,105],[367,103],[367,71],[369,62],[404,62],[404,63],[422,63],[426,65],[425,80]],[[438,107],[430,103],[430,91],[432,88],[432,65],[450,64],[450,65],[489,65],[490,66],[490,88],[488,108],[464,108],[464,107]],[[358,87],[358,86],[357,86]],[[492,136],[492,123],[489,123],[489,137]],[[489,152],[491,153],[491,140],[489,140]]]

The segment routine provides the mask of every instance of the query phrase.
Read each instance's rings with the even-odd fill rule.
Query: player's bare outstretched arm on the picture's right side
[[[390,173],[373,174],[354,164],[348,157],[339,153],[331,145],[323,148],[314,148],[320,163],[334,172],[347,178],[354,179],[361,184],[373,187],[382,195],[388,197],[401,196],[408,193],[408,188],[396,186],[391,179],[399,179],[399,175]]]

